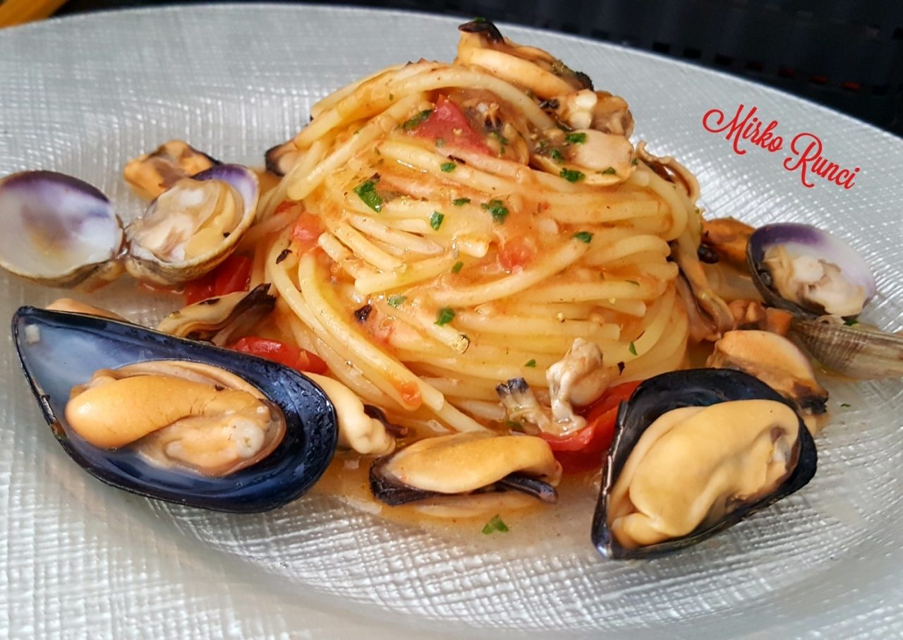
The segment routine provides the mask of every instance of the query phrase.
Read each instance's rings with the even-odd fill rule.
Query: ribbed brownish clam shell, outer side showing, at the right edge
[[[829,369],[861,380],[903,376],[903,337],[844,324],[794,320],[796,339]]]

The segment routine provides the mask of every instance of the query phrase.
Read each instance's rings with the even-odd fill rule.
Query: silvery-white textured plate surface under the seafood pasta
[[[124,218],[123,163],[186,138],[230,162],[261,153],[351,79],[450,60],[456,21],[278,5],[94,14],[0,32],[0,174],[67,172]],[[767,88],[579,39],[505,29],[626,97],[637,136],[702,182],[703,206],[757,224],[830,227],[872,264],[866,318],[903,329],[903,142]],[[840,52],[838,53],[840,54]],[[805,189],[786,152],[736,155],[703,113],[755,105],[789,138],[859,166],[852,190]],[[2,228],[0,228],[2,233]],[[0,275],[0,318],[55,292]],[[167,297],[116,284],[95,301],[149,321]],[[44,426],[3,338],[0,636],[859,637],[903,635],[903,385],[833,383],[819,471],[796,496],[692,551],[610,563],[586,533],[516,545],[444,539],[325,497],[211,515],[82,473]],[[851,406],[842,407],[842,403]],[[521,537],[523,539],[523,536]],[[582,542],[585,541],[585,542]]]

